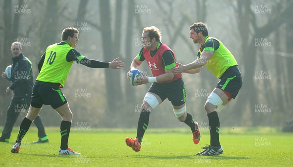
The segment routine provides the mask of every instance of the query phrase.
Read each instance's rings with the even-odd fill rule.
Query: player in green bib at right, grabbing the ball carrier
[[[173,68],[172,73],[194,74],[200,72],[201,68],[206,65],[209,71],[220,79],[205,104],[209,118],[210,144],[203,147],[202,152],[196,154],[201,156],[219,155],[223,153],[223,148],[219,141],[218,113],[232,98],[236,97],[242,87],[242,77],[234,56],[220,40],[209,37],[206,24],[194,23],[189,30],[189,37],[193,43],[201,44],[197,59],[187,65],[177,63],[179,66]]]

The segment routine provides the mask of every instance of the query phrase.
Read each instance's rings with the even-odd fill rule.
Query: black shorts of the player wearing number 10
[[[61,89],[55,85],[43,85],[40,81],[36,81],[33,87],[31,98],[31,106],[42,108],[42,105],[50,105],[53,109],[63,106],[67,103]]]

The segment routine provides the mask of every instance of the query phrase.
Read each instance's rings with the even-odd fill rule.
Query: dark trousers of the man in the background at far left
[[[20,98],[13,97],[9,108],[7,110],[7,118],[4,129],[2,131],[1,139],[9,139],[13,125],[15,124],[17,117],[20,113],[27,113],[30,105],[30,97]],[[36,127],[38,128],[38,137],[42,138],[46,136],[44,126],[42,124],[42,119],[40,115],[34,120]]]

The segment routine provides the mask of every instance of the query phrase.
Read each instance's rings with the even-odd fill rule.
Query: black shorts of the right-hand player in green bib
[[[234,75],[232,77],[223,78],[219,81],[216,88],[220,88],[231,94],[231,98],[235,98],[242,87],[241,74]]]

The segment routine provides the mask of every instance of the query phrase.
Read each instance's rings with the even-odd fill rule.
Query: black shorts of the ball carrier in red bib
[[[154,82],[147,92],[157,94],[162,102],[168,98],[173,106],[181,106],[185,103],[186,93],[182,78],[170,83],[158,84]]]

